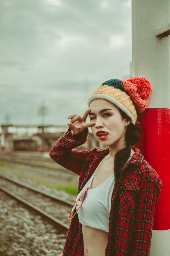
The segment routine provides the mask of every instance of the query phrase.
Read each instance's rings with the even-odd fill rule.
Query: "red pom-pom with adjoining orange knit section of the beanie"
[[[147,78],[134,76],[127,80],[122,80],[124,89],[131,95],[139,113],[142,113],[148,106],[148,98],[152,92],[152,87]]]

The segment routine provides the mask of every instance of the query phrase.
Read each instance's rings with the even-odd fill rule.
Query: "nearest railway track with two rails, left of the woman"
[[[43,216],[63,234],[67,234],[70,224],[68,215],[74,205],[73,202],[63,200],[56,195],[2,174],[0,174],[0,190],[20,202],[24,207]]]

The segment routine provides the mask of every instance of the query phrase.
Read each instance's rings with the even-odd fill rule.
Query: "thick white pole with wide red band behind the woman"
[[[159,174],[150,256],[170,255],[170,0],[132,0],[132,75],[144,76],[153,92],[138,121],[139,148]]]

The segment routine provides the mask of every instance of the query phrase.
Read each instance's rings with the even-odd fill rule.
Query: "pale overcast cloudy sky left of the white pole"
[[[45,124],[65,125],[130,63],[131,0],[0,1],[0,124],[41,124],[44,102]]]

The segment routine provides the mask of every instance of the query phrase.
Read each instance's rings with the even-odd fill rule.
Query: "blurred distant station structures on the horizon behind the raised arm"
[[[0,134],[0,149],[1,151],[39,151],[48,152],[54,143],[67,130],[65,127],[54,126],[34,126],[34,133],[29,134],[29,128],[33,126],[12,126],[15,132],[9,132],[11,126],[1,126]],[[25,128],[24,133],[18,133],[16,130]],[[49,132],[50,129],[57,128],[58,132]],[[94,138],[93,134],[89,132],[89,136],[85,144],[78,146],[78,149],[89,150],[94,147],[102,147]]]

